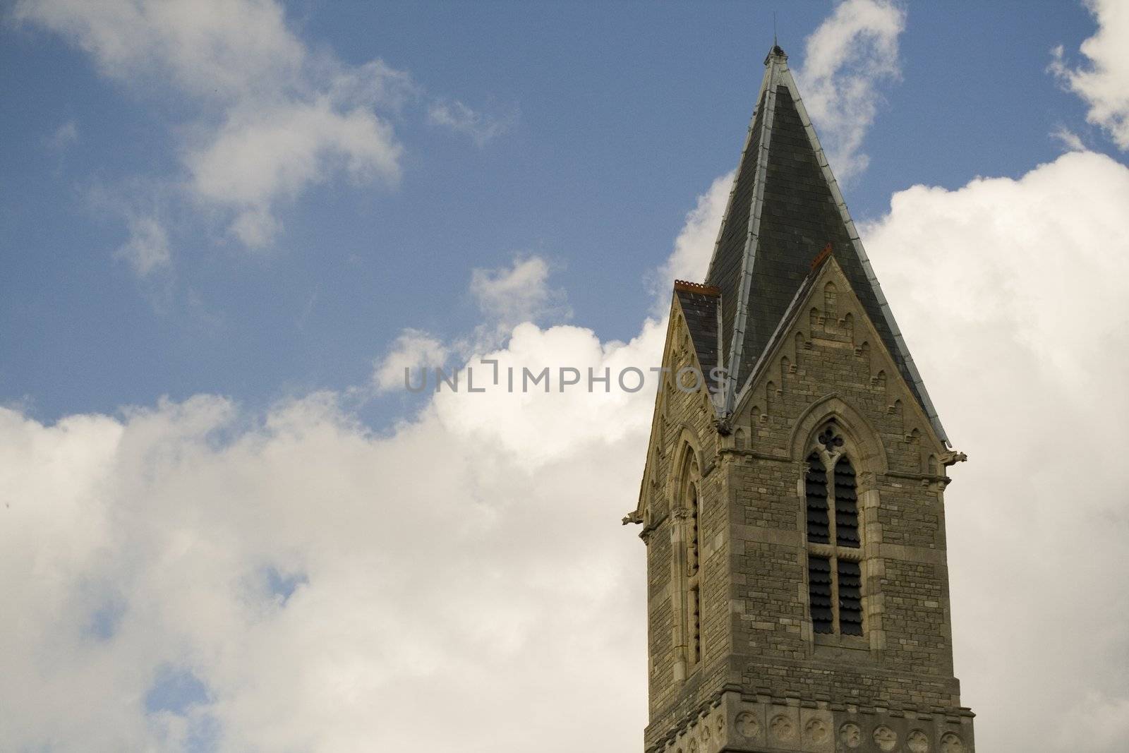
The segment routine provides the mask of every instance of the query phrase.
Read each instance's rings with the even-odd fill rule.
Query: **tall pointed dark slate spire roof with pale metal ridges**
[[[721,294],[720,361],[728,369],[723,413],[736,408],[737,395],[811,272],[812,260],[830,244],[899,370],[947,444],[788,70],[788,55],[773,46],[764,67],[706,277],[706,284]]]

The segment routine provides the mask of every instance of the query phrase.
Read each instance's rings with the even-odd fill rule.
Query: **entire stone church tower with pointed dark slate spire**
[[[647,544],[645,750],[973,751],[943,500],[964,456],[787,60],[765,60],[704,284],[674,283],[624,519]]]

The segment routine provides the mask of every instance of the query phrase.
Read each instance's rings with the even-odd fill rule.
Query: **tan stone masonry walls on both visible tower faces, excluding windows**
[[[820,271],[800,312],[754,371],[732,432],[718,432],[704,391],[688,395],[668,386],[658,401],[642,534],[650,597],[646,750],[679,753],[677,742],[701,729],[695,725],[724,694],[765,709],[828,709],[828,730],[865,735],[890,730],[937,741],[957,727],[917,730],[902,720],[946,719],[959,725],[962,750],[972,750],[971,715],[960,709],[952,675],[942,464],[947,450],[834,260]],[[664,364],[675,370],[697,365],[677,304]],[[815,634],[807,606],[804,458],[811,437],[832,418],[857,474],[861,637]],[[680,505],[674,464],[688,437],[701,472],[703,657],[680,677],[675,640],[683,596],[672,541],[682,522],[672,513]],[[758,717],[762,732],[769,717]],[[772,739],[782,750],[840,750],[825,748],[834,745],[830,738],[808,745],[798,734],[787,744],[770,736],[762,745]],[[718,741],[715,735],[710,746]],[[878,745],[877,738],[870,744]],[[754,748],[733,742],[715,750]]]

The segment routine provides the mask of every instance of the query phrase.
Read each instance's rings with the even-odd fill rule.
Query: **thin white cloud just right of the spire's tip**
[[[805,40],[796,82],[841,182],[869,163],[863,140],[882,98],[879,84],[901,77],[904,28],[905,11],[893,2],[846,0]]]

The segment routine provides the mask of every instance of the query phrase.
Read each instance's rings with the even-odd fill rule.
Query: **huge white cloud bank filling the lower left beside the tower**
[[[598,369],[660,344],[525,325],[508,352]],[[220,751],[443,750],[456,733],[465,751],[566,751],[577,718],[607,750],[636,744],[645,629],[624,615],[642,548],[618,518],[653,394],[586,397],[445,393],[387,439],[334,395],[262,421],[210,396],[53,427],[0,411],[17,461],[0,596],[20,615],[0,747],[176,751],[209,719]],[[300,585],[272,593],[271,571]],[[147,715],[168,667],[202,700]]]

